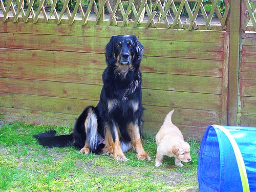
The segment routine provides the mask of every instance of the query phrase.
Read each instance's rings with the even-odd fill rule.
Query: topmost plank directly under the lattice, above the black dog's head
[[[81,26],[81,25],[56,25],[37,23],[11,23],[0,22],[0,32],[21,34],[45,34],[45,35],[67,35],[83,37],[105,37],[112,35],[132,34],[139,39],[193,41],[193,42],[215,42],[223,43],[224,31],[186,31],[169,29],[141,29],[130,27],[107,27],[107,26]],[[160,34],[160,35],[159,35]],[[171,38],[170,38],[171,37]]]

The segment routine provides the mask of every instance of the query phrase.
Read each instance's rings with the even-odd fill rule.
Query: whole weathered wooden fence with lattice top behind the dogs
[[[71,11],[64,0],[57,12],[56,0],[0,0],[3,120],[72,126],[98,102],[106,43],[133,34],[145,47],[145,132],[173,109],[185,138],[209,124],[256,126],[255,2],[212,0],[209,12],[202,0],[111,2]]]

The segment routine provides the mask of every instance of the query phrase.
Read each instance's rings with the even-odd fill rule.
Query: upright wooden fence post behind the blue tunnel
[[[230,44],[228,73],[228,109],[227,125],[237,125],[238,113],[238,77],[240,62],[240,14],[241,1],[232,0],[230,4]]]

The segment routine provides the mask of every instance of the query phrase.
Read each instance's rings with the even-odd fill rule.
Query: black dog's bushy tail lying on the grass
[[[65,147],[73,146],[73,135],[55,136],[56,131],[50,130],[45,133],[34,135],[33,137],[39,141],[39,144],[47,147]]]

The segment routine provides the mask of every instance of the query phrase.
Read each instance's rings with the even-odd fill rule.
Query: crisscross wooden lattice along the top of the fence
[[[248,24],[255,26],[255,3]],[[226,30],[229,0],[0,0],[3,22]],[[61,3],[61,9],[57,5]],[[253,4],[253,5],[252,5]],[[70,8],[73,5],[72,9]],[[140,5],[140,6],[138,6]],[[210,7],[210,9],[207,9]],[[58,10],[59,9],[59,10]],[[182,13],[187,15],[183,16]]]

